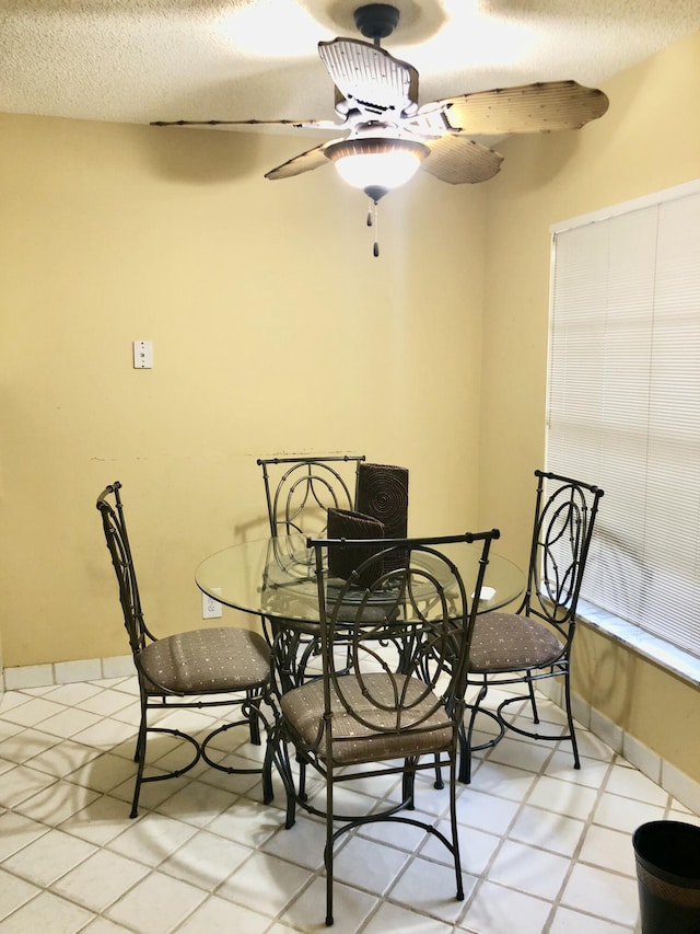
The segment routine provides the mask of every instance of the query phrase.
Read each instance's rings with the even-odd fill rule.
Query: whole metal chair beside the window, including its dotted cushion
[[[571,648],[576,631],[576,606],[603,491],[571,477],[536,470],[537,495],[528,558],[527,587],[515,612],[477,616],[467,684],[478,688],[460,734],[459,780],[471,779],[471,753],[494,746],[506,729],[533,739],[571,740],[574,768],[579,748],[571,712]],[[535,684],[562,679],[567,729],[541,733]],[[523,684],[525,694],[509,696],[495,711],[485,708],[489,687]],[[510,705],[528,701],[533,727],[506,717]],[[495,722],[497,734],[474,745],[477,716]]]

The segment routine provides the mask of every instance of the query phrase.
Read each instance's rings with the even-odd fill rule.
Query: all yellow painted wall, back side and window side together
[[[94,508],[116,478],[161,632],[199,621],[203,555],[265,533],[261,454],[405,464],[411,532],[495,524],[522,562],[550,224],[700,174],[700,35],[604,90],[603,119],[509,140],[492,182],[387,197],[380,260],[329,168],[261,177],[307,139],[0,115],[4,665],[126,652]],[[574,667],[700,781],[698,691],[588,632]]]

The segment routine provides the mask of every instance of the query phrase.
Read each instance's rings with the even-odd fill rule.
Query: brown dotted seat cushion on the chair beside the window
[[[538,620],[516,613],[482,613],[477,616],[469,671],[523,671],[547,668],[564,652],[564,644]]]

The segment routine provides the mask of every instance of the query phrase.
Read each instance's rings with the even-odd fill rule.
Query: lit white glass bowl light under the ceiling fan
[[[325,150],[340,177],[373,201],[410,181],[429,152],[422,142],[386,137],[345,139]]]

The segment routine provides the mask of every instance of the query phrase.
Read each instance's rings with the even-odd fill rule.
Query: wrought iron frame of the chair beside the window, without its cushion
[[[572,745],[574,768],[581,768],[579,747],[571,708],[571,654],[576,629],[576,607],[586,567],[591,540],[598,511],[598,504],[604,491],[592,484],[583,483],[569,476],[535,471],[537,493],[535,500],[535,517],[530,553],[528,560],[527,586],[522,602],[514,613],[485,613],[478,618],[474,635],[474,657],[479,650],[480,641],[486,627],[492,621],[498,627],[501,620],[524,616],[528,621],[537,621],[561,644],[560,652],[552,648],[546,665],[520,664],[513,660],[511,666],[500,669],[489,668],[476,672],[472,668],[467,677],[467,687],[477,687],[478,694],[474,703],[468,704],[467,723],[460,731],[460,766],[459,780],[468,783],[471,779],[471,753],[495,746],[506,730],[512,730],[530,739],[549,741],[570,740]],[[556,484],[552,489],[547,482]],[[568,537],[568,547],[564,549],[564,535]],[[555,542],[556,540],[556,542]],[[568,558],[563,565],[558,560],[555,549],[557,543],[564,549]],[[556,644],[552,642],[551,646]],[[509,719],[504,711],[512,704],[527,701],[529,703],[533,723],[539,724],[539,714],[535,699],[535,684],[551,678],[563,679],[563,704],[567,717],[565,733],[541,733],[516,725]],[[525,684],[527,693],[506,697],[495,711],[482,707],[490,687],[509,684]],[[495,736],[475,745],[472,742],[475,724],[478,715],[486,715],[497,725]]]

